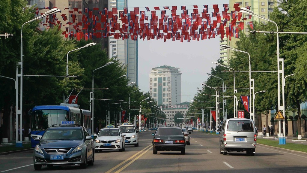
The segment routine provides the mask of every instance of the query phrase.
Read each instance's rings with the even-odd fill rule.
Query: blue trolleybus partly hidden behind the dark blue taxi
[[[31,116],[31,146],[35,147],[48,127],[60,125],[62,121],[75,121],[91,133],[91,112],[70,106],[35,106],[29,112]]]

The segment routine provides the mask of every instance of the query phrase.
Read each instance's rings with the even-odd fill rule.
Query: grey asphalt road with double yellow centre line
[[[103,151],[95,153],[94,166],[86,170],[79,166],[42,167],[42,172],[227,172],[227,173],[281,173],[307,172],[307,155],[292,153],[258,145],[255,156],[246,152],[220,154],[218,136],[193,131],[191,145],[186,146],[185,155],[177,151],[158,151],[153,155],[150,131],[140,133],[139,147],[127,146],[126,151]],[[1,155],[0,172],[34,172],[33,151],[22,151]],[[35,171],[40,172],[40,171]]]

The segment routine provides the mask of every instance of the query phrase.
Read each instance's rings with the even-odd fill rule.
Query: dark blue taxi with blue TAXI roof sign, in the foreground
[[[92,137],[85,127],[76,127],[74,121],[62,121],[60,127],[49,127],[44,135],[35,140],[34,169],[41,166],[80,164],[82,168],[93,165],[95,150]]]

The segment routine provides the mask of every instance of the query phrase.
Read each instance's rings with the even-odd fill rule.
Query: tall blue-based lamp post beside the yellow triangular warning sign
[[[278,80],[278,109],[279,110],[282,110],[282,114],[285,115],[285,81],[282,80],[282,98],[280,98],[280,74],[282,75],[282,79],[284,79],[284,59],[283,58],[279,58],[279,36],[278,36],[278,26],[277,26],[277,23],[270,20],[270,19],[267,19],[267,18],[264,18],[264,17],[261,17],[257,14],[254,14],[253,11],[251,10],[248,10],[247,8],[244,8],[244,7],[241,7],[240,8],[240,12],[241,13],[244,13],[244,14],[249,14],[249,15],[252,15],[252,16],[255,16],[257,18],[261,18],[263,20],[266,20],[268,22],[272,22],[275,24],[276,26],[276,31],[277,31],[277,80]],[[282,101],[282,103],[281,103]],[[282,104],[282,105],[281,105]],[[285,120],[286,121],[286,116],[285,116]],[[279,144],[286,144],[286,125],[285,123],[283,123],[283,127],[284,127],[284,130],[283,130],[283,136],[281,136],[281,120],[278,120],[278,130],[279,130]]]

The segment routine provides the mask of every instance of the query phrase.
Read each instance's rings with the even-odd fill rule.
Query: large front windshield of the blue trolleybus
[[[69,121],[68,111],[65,110],[37,110],[32,112],[32,130],[46,130],[52,125]]]

